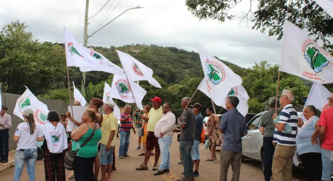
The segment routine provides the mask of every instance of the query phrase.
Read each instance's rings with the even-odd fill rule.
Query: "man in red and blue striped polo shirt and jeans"
[[[120,117],[120,145],[119,145],[119,158],[130,157],[127,154],[128,147],[130,145],[130,135],[131,129],[133,129],[134,134],[136,131],[132,124],[131,106],[125,106],[125,112]]]

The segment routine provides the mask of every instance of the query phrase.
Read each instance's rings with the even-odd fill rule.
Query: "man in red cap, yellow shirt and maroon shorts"
[[[162,100],[159,97],[155,97],[154,99],[150,99],[150,100],[152,100],[153,108],[150,109],[148,117],[140,115],[141,119],[148,122],[148,125],[147,125],[148,134],[147,134],[147,139],[146,139],[147,147],[146,147],[145,160],[144,160],[143,164],[141,164],[139,167],[136,168],[137,170],[148,170],[147,163],[148,163],[149,157],[151,155],[151,150],[153,150],[154,147],[155,147],[155,163],[154,163],[153,170],[159,169],[157,162],[159,161],[161,151],[160,151],[158,138],[154,135],[154,129],[155,129],[157,122],[159,122],[163,116],[162,107],[161,107]],[[164,172],[167,172],[167,170]]]

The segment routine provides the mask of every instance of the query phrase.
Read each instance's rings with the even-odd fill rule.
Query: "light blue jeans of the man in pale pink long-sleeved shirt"
[[[171,135],[159,138],[159,146],[161,150],[161,164],[159,170],[170,168],[170,145],[172,143],[170,138]]]

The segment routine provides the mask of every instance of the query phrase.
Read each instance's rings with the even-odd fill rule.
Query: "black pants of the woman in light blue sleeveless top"
[[[303,153],[299,157],[301,157],[307,181],[321,180],[321,153]]]

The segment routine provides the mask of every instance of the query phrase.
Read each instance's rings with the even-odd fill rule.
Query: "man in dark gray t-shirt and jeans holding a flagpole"
[[[180,158],[184,167],[184,177],[177,181],[192,181],[193,180],[193,165],[191,157],[191,148],[194,142],[194,123],[195,115],[190,106],[190,98],[184,97],[181,100],[181,107],[184,109],[184,114],[177,119],[180,126],[179,150]],[[174,129],[174,132],[179,130]]]

